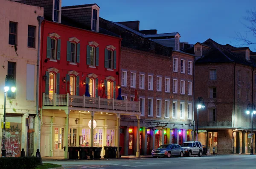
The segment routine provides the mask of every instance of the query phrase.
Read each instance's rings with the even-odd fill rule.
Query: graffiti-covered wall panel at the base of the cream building
[[[10,128],[6,129],[6,157],[20,157],[21,151],[21,123],[10,123]],[[3,140],[2,140],[3,149]]]

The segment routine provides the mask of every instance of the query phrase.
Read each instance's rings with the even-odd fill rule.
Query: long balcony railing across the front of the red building
[[[72,106],[72,107],[90,107],[97,109],[111,109],[123,111],[140,111],[140,101],[104,99],[100,97],[74,96],[67,93],[63,94],[45,94],[43,93],[43,106]]]

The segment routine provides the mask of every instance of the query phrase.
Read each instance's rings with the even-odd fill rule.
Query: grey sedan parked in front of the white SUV
[[[183,157],[184,149],[178,144],[163,144],[159,146],[157,149],[153,149],[151,152],[153,158],[157,157],[172,157],[172,156],[180,156]]]

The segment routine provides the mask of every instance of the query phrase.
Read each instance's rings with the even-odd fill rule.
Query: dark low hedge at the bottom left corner
[[[0,158],[0,169],[35,169],[40,161],[37,157]]]

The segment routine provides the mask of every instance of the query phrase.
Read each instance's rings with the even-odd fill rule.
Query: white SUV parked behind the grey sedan
[[[198,155],[199,157],[202,157],[204,152],[200,141],[187,141],[180,146],[184,149],[184,155],[187,157],[191,157],[191,155]]]

